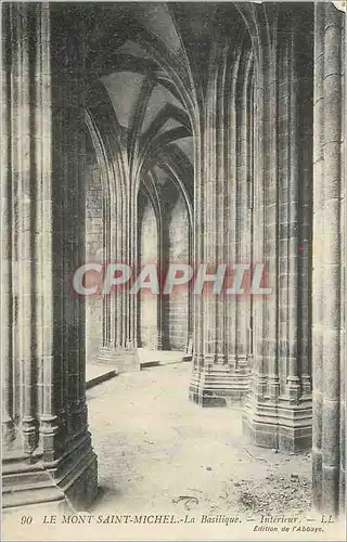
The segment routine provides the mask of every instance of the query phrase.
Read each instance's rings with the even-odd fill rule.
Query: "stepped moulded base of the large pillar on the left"
[[[98,462],[89,433],[51,464],[43,463],[40,453],[3,456],[2,507],[8,512],[40,505],[52,512],[83,511],[97,493]]]

